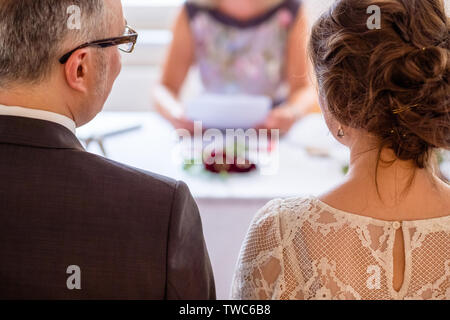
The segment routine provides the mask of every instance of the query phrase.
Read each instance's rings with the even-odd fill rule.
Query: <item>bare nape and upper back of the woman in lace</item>
[[[408,211],[405,204],[413,203],[412,207],[418,209],[417,215],[426,209],[419,208],[428,202],[426,200],[434,202],[433,205],[442,206],[439,203],[445,203],[445,199],[448,203],[450,195],[450,187],[436,176],[432,168],[420,169],[412,160],[400,160],[389,148],[379,153],[376,144],[371,147],[367,141],[351,148],[347,184],[375,206],[405,212]],[[432,209],[431,204],[429,208]]]

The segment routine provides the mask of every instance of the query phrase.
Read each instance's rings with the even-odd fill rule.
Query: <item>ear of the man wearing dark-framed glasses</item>
[[[89,54],[89,49],[79,49],[70,56],[64,66],[69,87],[83,93],[88,91]]]

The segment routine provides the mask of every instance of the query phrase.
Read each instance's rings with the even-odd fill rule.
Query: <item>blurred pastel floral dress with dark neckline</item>
[[[248,21],[186,3],[196,63],[208,93],[265,95],[274,105],[288,96],[285,61],[298,0],[286,0]]]

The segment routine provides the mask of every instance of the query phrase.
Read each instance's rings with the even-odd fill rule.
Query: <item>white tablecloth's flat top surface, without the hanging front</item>
[[[135,124],[142,125],[142,128],[105,140],[108,158],[183,180],[197,199],[270,199],[318,194],[342,179],[341,169],[348,155],[345,148],[333,140],[320,115],[308,117],[291,134],[282,138],[278,150],[279,170],[270,176],[253,172],[223,179],[185,172],[173,159],[176,152],[174,130],[153,113],[104,112],[79,128],[77,135],[87,137]],[[307,146],[331,149],[334,159],[311,157],[304,150]],[[88,150],[100,152],[95,145]]]

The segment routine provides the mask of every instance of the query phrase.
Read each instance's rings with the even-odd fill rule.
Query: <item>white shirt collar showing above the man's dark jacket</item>
[[[67,129],[72,131],[73,134],[76,133],[77,126],[72,119],[50,111],[29,109],[23,107],[9,107],[0,104],[0,115],[46,120],[66,127]]]

